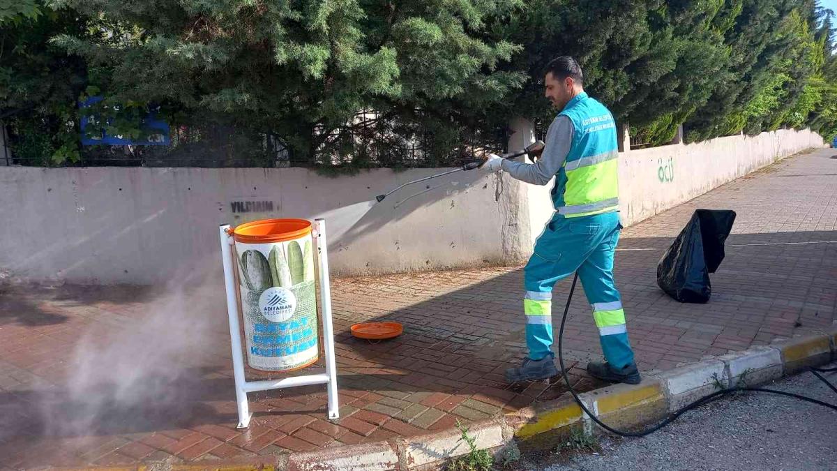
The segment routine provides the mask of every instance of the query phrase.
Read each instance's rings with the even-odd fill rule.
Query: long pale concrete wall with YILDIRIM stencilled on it
[[[531,142],[526,132],[517,138]],[[811,132],[778,131],[622,153],[625,223],[822,145]],[[377,194],[441,171],[330,179],[302,168],[4,167],[0,268],[93,283],[162,283],[205,269],[198,267],[219,275],[218,225],[266,217],[325,217],[336,275],[524,261],[552,214],[549,186],[470,171],[375,203]]]

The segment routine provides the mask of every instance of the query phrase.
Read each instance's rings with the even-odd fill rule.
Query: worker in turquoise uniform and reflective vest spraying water
[[[619,240],[619,189],[614,117],[583,89],[581,66],[568,56],[547,65],[546,96],[558,115],[547,130],[536,163],[514,162],[490,154],[482,167],[506,171],[528,184],[545,185],[554,177],[555,213],[535,242],[523,269],[526,297],[526,346],[520,367],[506,380],[542,380],[558,374],[552,346],[552,287],[578,272],[593,308],[604,362],[590,362],[590,375],[637,384],[639,370],[628,340],[625,314],[614,285],[614,250]]]

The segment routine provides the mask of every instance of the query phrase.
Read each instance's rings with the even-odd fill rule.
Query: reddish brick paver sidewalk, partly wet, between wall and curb
[[[624,230],[616,276],[641,369],[830,326],[832,153],[789,159]],[[676,303],[655,283],[662,251],[696,208],[738,215],[704,305]],[[508,386],[502,378],[525,355],[521,281],[520,267],[335,280],[341,420],[325,420],[324,388],[269,391],[251,395],[246,432],[234,428],[219,287],[165,296],[133,287],[5,287],[0,468],[311,450],[444,429],[561,396],[560,383]],[[557,287],[557,306],[568,286]],[[405,333],[377,344],[348,334],[369,320],[398,320]],[[565,349],[572,365],[599,355],[580,291]],[[571,374],[580,389],[597,386],[578,368]]]

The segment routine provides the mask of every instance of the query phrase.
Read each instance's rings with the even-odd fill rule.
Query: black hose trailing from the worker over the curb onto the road
[[[650,433],[654,433],[654,432],[660,430],[660,428],[665,427],[666,425],[669,425],[671,422],[674,422],[675,420],[677,420],[678,417],[680,417],[681,415],[683,415],[687,411],[691,411],[692,409],[694,409],[698,406],[703,406],[704,404],[708,404],[711,401],[716,401],[716,399],[719,399],[722,396],[727,396],[729,394],[732,394],[732,393],[735,393],[735,392],[741,392],[741,391],[769,392],[769,393],[773,393],[773,394],[778,394],[780,396],[793,397],[793,398],[799,399],[801,401],[808,401],[808,402],[811,402],[811,403],[814,403],[814,404],[818,404],[819,406],[829,407],[829,409],[837,411],[837,406],[829,404],[828,402],[818,401],[818,400],[813,399],[811,397],[801,396],[801,395],[798,395],[798,394],[793,394],[792,392],[775,391],[775,390],[772,390],[772,389],[764,389],[764,388],[757,388],[757,387],[732,387],[732,388],[726,388],[726,389],[722,389],[720,391],[712,392],[708,396],[702,397],[701,399],[698,399],[697,401],[690,402],[686,406],[683,406],[680,409],[678,409],[674,412],[671,412],[669,414],[669,417],[665,417],[665,419],[663,419],[662,422],[660,422],[660,423],[658,423],[654,426],[651,426],[649,428],[645,428],[644,430],[642,430],[640,432],[627,432],[627,431],[624,431],[624,430],[618,430],[614,427],[610,427],[610,426],[608,426],[608,424],[599,420],[598,417],[594,416],[593,413],[588,410],[587,406],[584,406],[584,403],[578,397],[578,393],[573,389],[573,385],[570,383],[569,376],[567,376],[567,368],[564,366],[564,358],[563,358],[563,355],[562,355],[562,353],[563,353],[562,352],[562,344],[563,344],[563,339],[564,339],[564,325],[567,323],[567,313],[569,313],[569,310],[570,310],[570,302],[572,302],[572,300],[573,300],[573,292],[575,292],[576,282],[578,282],[578,272],[575,273],[575,276],[573,277],[573,286],[570,287],[570,292],[567,295],[567,305],[564,306],[564,314],[561,318],[561,329],[558,330],[558,364],[561,365],[561,375],[563,376],[564,381],[567,383],[567,388],[569,389],[570,394],[572,394],[573,398],[575,398],[575,401],[578,402],[578,406],[580,406],[582,408],[582,410],[588,415],[588,417],[590,417],[591,420],[593,420],[593,422],[596,422],[599,427],[602,427],[603,429],[607,430],[608,432],[615,433],[616,435],[621,435],[623,437],[644,437],[646,435],[649,435]],[[830,368],[828,370],[821,370],[821,369],[812,368],[811,370],[812,370],[812,373],[814,373],[814,375],[817,375],[817,377],[820,380],[823,380],[826,385],[828,385],[832,390],[834,390],[834,392],[837,392],[837,388],[834,388],[834,386],[832,386],[831,383],[829,383],[828,380],[825,380],[825,378],[823,376],[817,374],[817,371],[822,371],[822,372],[835,371],[835,370],[837,370],[837,368]]]

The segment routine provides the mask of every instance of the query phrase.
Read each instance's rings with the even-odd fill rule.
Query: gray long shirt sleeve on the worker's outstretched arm
[[[547,130],[547,141],[543,153],[536,163],[514,162],[505,159],[503,170],[515,179],[529,184],[545,185],[558,173],[558,169],[567,160],[570,145],[573,142],[573,122],[570,118],[558,115],[552,120]]]

